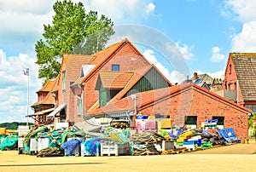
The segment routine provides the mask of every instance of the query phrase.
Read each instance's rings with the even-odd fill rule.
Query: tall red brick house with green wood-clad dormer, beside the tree
[[[55,110],[47,117],[70,124],[88,118],[90,111],[105,106],[119,93],[120,99],[172,86],[127,39],[92,55],[64,54],[57,78],[48,93],[55,98]]]

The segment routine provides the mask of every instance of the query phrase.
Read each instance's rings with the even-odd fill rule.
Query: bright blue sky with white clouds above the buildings
[[[167,37],[182,54],[189,72],[177,71],[172,61],[166,62],[154,46],[146,47],[143,43],[136,46],[172,83],[186,75],[191,77],[193,72],[221,77],[230,52],[256,51],[256,3],[252,0],[81,2],[87,12],[97,10],[105,14],[115,26],[143,26],[149,32],[154,30],[160,37]],[[26,121],[27,77],[22,70],[27,67],[30,68],[29,104],[37,101],[36,91],[42,81],[37,78],[34,45],[42,38],[44,24],[51,24],[54,3],[52,0],[0,0],[0,123]],[[159,39],[151,34],[148,37],[153,42]],[[109,43],[114,41],[119,40],[112,39]],[[166,45],[171,44],[162,46]]]

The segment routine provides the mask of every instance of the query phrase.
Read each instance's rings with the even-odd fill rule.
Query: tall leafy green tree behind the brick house
[[[93,54],[105,47],[113,35],[113,21],[97,12],[85,13],[83,3],[56,1],[52,25],[44,25],[44,39],[35,45],[38,78],[44,83],[60,72],[63,54]]]

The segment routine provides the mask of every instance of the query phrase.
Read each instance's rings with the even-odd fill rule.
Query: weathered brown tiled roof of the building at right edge
[[[244,100],[256,100],[256,53],[230,53]]]

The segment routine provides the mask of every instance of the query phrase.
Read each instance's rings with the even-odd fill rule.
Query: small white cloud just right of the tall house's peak
[[[187,44],[183,44],[183,46],[180,46],[179,42],[175,44],[166,43],[166,49],[177,57],[180,56],[179,54],[182,54],[185,60],[191,60],[194,57],[194,54],[191,53],[192,49],[194,49],[194,45],[189,47]]]

